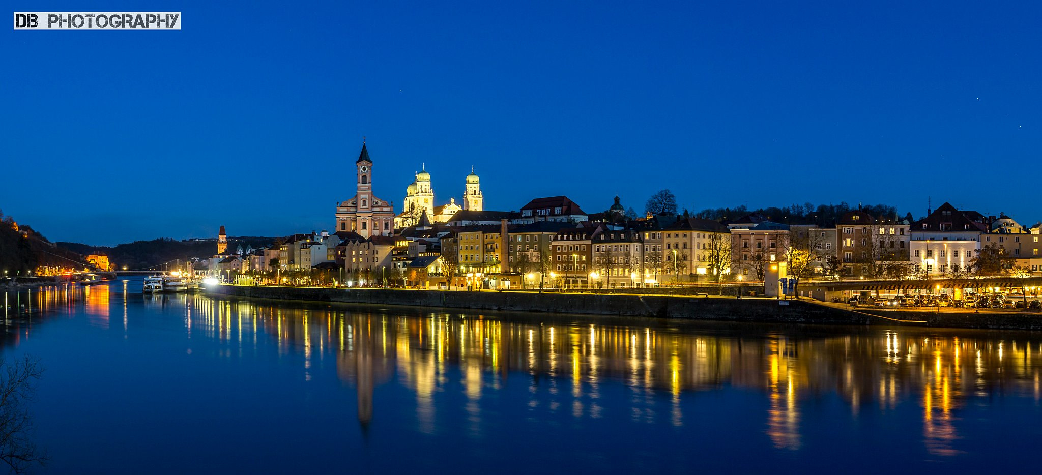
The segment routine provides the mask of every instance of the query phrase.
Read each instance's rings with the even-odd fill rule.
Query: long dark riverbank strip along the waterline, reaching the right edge
[[[249,299],[361,303],[596,316],[652,317],[766,323],[920,326],[1042,330],[1042,316],[1007,312],[887,312],[815,300],[605,295],[546,292],[465,292],[400,289],[325,289],[220,284],[207,294]]]

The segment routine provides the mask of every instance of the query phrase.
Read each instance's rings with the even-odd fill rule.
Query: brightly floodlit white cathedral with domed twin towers
[[[401,214],[394,218],[395,228],[401,229],[416,225],[420,223],[424,215],[430,223],[445,223],[456,211],[463,209],[480,211],[482,209],[485,198],[481,196],[481,185],[473,168],[466,178],[463,206],[456,204],[455,198],[451,198],[448,204],[435,206],[435,191],[430,186],[430,174],[427,173],[426,166],[422,166],[420,170],[420,173],[416,174],[416,179],[405,189]]]

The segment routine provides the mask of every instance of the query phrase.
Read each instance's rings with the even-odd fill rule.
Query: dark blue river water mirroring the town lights
[[[403,291],[405,292],[405,291]],[[1042,335],[8,292],[38,473],[1032,470]],[[31,309],[30,309],[31,306]]]

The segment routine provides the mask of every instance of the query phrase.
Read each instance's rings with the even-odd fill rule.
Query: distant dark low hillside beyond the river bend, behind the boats
[[[228,238],[228,248],[242,245],[262,248],[271,245],[274,238],[239,236]],[[160,238],[152,241],[135,241],[114,247],[89,246],[80,243],[56,243],[59,248],[80,254],[107,254],[116,269],[126,267],[131,270],[162,269],[165,262],[205,258],[217,253],[217,240],[182,240]]]

